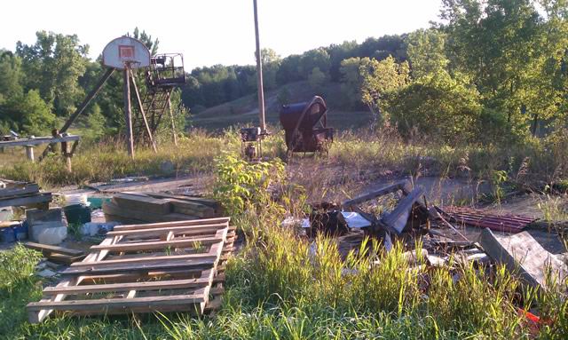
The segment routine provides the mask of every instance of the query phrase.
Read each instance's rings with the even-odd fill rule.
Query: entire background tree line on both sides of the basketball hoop
[[[568,123],[567,19],[568,0],[443,0],[427,29],[286,58],[265,49],[264,86],[307,81],[325,95],[327,83],[341,84],[343,107],[368,109],[373,124],[406,137],[519,140]],[[157,51],[157,39],[133,35]],[[0,51],[0,130],[37,134],[70,115],[104,72],[88,49],[77,36],[38,32],[35,44]],[[173,100],[196,113],[256,92],[254,66],[197,67],[187,80]],[[114,75],[89,107],[95,133],[122,129],[121,86]]]

